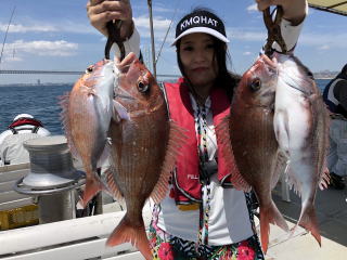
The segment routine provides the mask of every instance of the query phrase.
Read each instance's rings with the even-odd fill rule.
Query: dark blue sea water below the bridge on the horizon
[[[318,79],[317,84],[323,90],[329,81]],[[26,113],[39,119],[52,134],[64,134],[59,98],[72,88],[72,84],[1,87],[0,132],[8,128],[16,115]]]

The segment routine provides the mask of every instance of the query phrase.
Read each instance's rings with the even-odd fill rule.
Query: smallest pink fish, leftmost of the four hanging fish
[[[113,116],[114,84],[113,62],[101,61],[88,67],[62,101],[68,145],[73,155],[81,159],[87,173],[83,206],[103,188],[95,171]]]

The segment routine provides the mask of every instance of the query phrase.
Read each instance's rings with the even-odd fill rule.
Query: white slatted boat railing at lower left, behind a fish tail
[[[105,242],[125,211],[108,212],[0,232],[2,260],[137,260],[144,259],[131,244],[106,247]],[[151,210],[143,210],[145,225]]]

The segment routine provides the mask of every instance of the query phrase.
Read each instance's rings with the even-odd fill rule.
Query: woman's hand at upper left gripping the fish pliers
[[[88,0],[87,14],[92,26],[107,36],[106,24],[121,20],[120,38],[128,39],[133,31],[130,0]]]

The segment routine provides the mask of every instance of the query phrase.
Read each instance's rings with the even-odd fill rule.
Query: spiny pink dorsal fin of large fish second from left
[[[175,121],[169,121],[169,140],[165,159],[162,166],[160,177],[151,193],[151,197],[155,204],[158,204],[168,192],[168,182],[169,178],[171,177],[171,171],[175,168],[180,148],[187,140],[187,135],[184,134],[185,130],[179,127]]]

